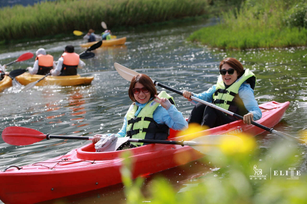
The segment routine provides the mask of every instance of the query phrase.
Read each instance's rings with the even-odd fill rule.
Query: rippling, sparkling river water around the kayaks
[[[95,77],[91,85],[34,87],[27,91],[11,87],[1,92],[1,132],[8,126],[21,126],[52,135],[93,136],[97,133],[116,133],[122,127],[122,120],[131,100],[127,94],[129,82],[116,72],[114,62],[147,74],[153,80],[174,89],[200,93],[216,83],[219,62],[225,57],[235,57],[245,68],[250,68],[256,74],[255,97],[259,104],[271,100],[290,101],[283,120],[275,129],[301,137],[307,127],[305,47],[223,51],[185,40],[193,31],[214,23],[204,21],[171,28],[121,33],[113,31],[118,37],[127,37],[125,45],[95,50],[95,57],[85,59],[86,67],[78,70],[81,76]],[[44,47],[48,54],[57,59],[68,44],[74,45],[77,53],[84,51],[79,46],[80,43],[84,41],[63,39],[32,42],[26,46],[8,46],[0,51],[0,63],[11,62],[28,51],[35,54],[40,47]],[[33,62],[34,58],[16,62],[7,70],[25,69],[33,66]],[[157,89],[163,90],[160,87]],[[170,94],[174,97],[178,110],[188,117],[193,105],[176,93]],[[275,137],[268,132],[257,136],[262,148],[269,147]],[[0,169],[56,157],[88,142],[90,141],[50,139],[33,145],[13,146],[0,140]],[[161,174],[180,189],[191,178],[210,173],[211,168],[214,167],[210,164],[192,162],[186,168],[173,168]],[[150,179],[147,179],[147,183],[150,183]],[[121,203],[125,200],[122,189],[122,184],[119,184],[74,195],[68,200],[78,203]]]

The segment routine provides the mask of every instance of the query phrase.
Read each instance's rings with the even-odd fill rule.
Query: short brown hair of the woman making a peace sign
[[[129,87],[129,97],[130,99],[135,102],[135,98],[134,98],[134,94],[132,89],[134,88],[134,85],[136,82],[141,83],[143,86],[145,86],[149,92],[150,92],[150,97],[154,97],[154,95],[158,95],[157,94],[157,89],[153,84],[153,81],[151,80],[151,78],[149,76],[147,76],[146,74],[138,74],[135,75],[132,79],[131,79],[131,83],[130,83],[130,87]]]

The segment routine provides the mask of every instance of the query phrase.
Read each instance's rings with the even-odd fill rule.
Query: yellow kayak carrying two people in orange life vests
[[[16,80],[22,85],[28,85],[31,82],[35,82],[45,75],[31,75],[28,72],[25,72],[17,77]],[[94,77],[81,77],[78,75],[71,76],[47,76],[36,86],[46,86],[46,85],[59,85],[59,86],[76,86],[76,85],[90,85]]]

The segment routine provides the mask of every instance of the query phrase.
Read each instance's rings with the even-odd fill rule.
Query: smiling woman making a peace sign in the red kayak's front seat
[[[132,78],[128,95],[133,104],[124,117],[122,129],[115,134],[117,137],[165,140],[169,135],[169,128],[188,128],[187,121],[174,105],[173,97],[165,91],[157,94],[153,81],[146,74],[138,74]],[[92,142],[98,142],[102,136],[94,135]],[[140,145],[142,143],[126,142],[119,149]]]

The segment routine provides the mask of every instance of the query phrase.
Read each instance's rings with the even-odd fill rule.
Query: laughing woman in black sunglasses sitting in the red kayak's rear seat
[[[226,58],[220,62],[220,76],[216,85],[199,94],[184,91],[183,96],[192,101],[191,96],[210,102],[238,115],[243,115],[243,122],[261,118],[262,113],[254,96],[256,77],[249,69],[234,58]],[[224,125],[238,120],[232,115],[211,108],[202,103],[192,101],[195,105],[188,123],[198,123],[209,128]]]

